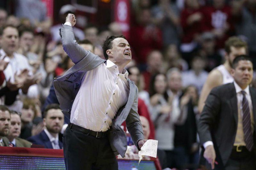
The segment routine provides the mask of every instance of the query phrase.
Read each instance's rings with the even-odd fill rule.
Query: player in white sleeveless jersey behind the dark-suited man
[[[201,113],[204,108],[204,102],[212,88],[221,84],[227,84],[234,81],[230,74],[231,65],[236,56],[247,53],[247,44],[240,38],[232,36],[225,42],[225,63],[214,68],[208,75],[198,102],[198,110]]]

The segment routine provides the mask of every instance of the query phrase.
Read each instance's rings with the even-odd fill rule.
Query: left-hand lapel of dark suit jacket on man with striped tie
[[[236,97],[236,89],[234,83],[230,83],[230,87],[228,87],[228,94],[230,95],[230,105],[232,114],[234,115],[235,121],[236,121],[236,129],[237,129],[237,123],[238,123],[238,106],[237,106],[237,97]]]

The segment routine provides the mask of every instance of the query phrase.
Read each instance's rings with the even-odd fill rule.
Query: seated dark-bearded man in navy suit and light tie
[[[59,141],[59,133],[63,126],[64,115],[59,104],[49,104],[44,110],[44,130],[38,135],[31,136],[27,140],[33,144],[44,145],[48,149],[62,149]]]

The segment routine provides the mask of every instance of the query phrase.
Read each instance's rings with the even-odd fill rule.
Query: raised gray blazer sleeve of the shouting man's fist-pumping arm
[[[71,58],[73,63],[78,63],[88,54],[88,51],[84,50],[84,48],[76,42],[73,28],[71,26],[63,25],[60,28],[60,36],[63,49]]]

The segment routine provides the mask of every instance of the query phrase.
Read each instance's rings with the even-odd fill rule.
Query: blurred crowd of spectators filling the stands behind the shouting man
[[[32,1],[17,2],[15,15],[0,9],[0,104],[20,117],[20,132],[16,130],[15,137],[41,144],[31,136],[50,127],[44,115],[51,114],[45,108],[49,111],[50,104],[50,110],[59,109],[51,105],[58,104],[52,82],[74,65],[62,48],[59,27],[68,13],[76,13],[76,8],[69,4],[62,6],[59,24],[53,25],[41,1],[33,1],[33,8],[28,8]],[[163,168],[196,168],[200,148],[196,135],[200,92],[208,73],[224,62],[225,42],[229,37],[237,36],[246,42],[247,53],[256,62],[256,0],[158,0],[154,5],[150,0],[132,0],[131,3],[128,42],[132,62],[126,69],[139,89],[138,112],[146,118],[150,129],[144,135],[158,140],[158,148],[165,151],[168,161],[162,163]],[[101,58],[104,58],[103,40],[110,35],[122,35],[116,22],[105,27],[88,23],[84,29],[73,29],[77,41],[91,44],[91,51]],[[11,120],[13,117],[16,118],[11,114]],[[60,135],[53,138],[61,142],[63,124],[69,120],[54,118],[52,128]],[[61,149],[62,144],[51,146]]]

